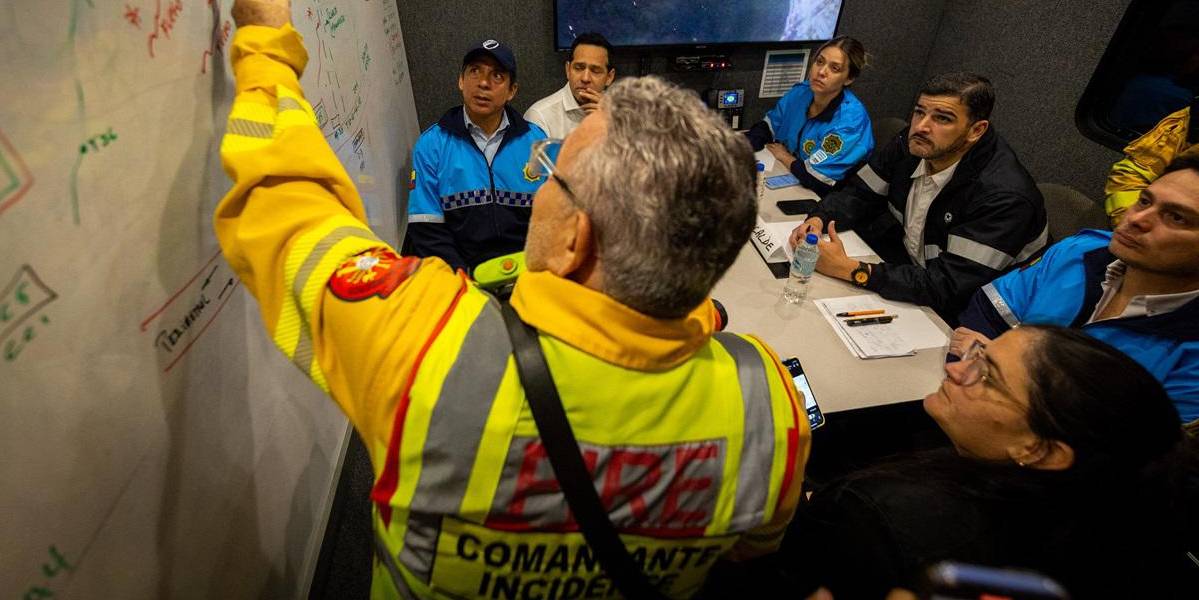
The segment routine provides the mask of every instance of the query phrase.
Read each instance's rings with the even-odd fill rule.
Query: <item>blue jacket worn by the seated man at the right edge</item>
[[[983,287],[962,325],[995,337],[1020,323],[1081,328],[1153,374],[1186,422],[1199,419],[1199,300],[1152,317],[1084,324],[1103,295],[1111,232],[1085,229],[1046,251],[1041,260]]]

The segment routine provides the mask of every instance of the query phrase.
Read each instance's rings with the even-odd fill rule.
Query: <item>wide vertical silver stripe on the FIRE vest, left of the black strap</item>
[[[441,392],[421,450],[421,474],[409,508],[399,562],[428,583],[433,575],[441,515],[462,508],[466,482],[478,454],[512,344],[494,302],[470,325]]]

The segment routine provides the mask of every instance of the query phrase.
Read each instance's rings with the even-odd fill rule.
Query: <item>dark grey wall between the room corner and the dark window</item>
[[[1037,181],[1103,197],[1117,152],[1074,126],[1074,107],[1127,0],[992,0],[945,6],[926,76],[977,71],[995,84],[998,131]]]

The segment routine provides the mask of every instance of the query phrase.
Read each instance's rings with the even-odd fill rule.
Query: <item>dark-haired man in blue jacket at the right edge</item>
[[[978,290],[950,353],[1020,323],[1077,326],[1153,373],[1199,425],[1199,156],[1175,158],[1115,232],[1083,230]]]

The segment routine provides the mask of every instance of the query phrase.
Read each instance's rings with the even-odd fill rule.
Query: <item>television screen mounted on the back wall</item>
[[[842,0],[555,0],[555,48],[585,31],[616,47],[811,42],[837,31]]]

